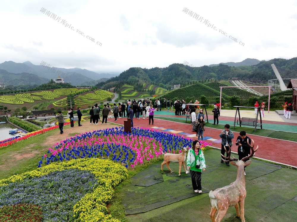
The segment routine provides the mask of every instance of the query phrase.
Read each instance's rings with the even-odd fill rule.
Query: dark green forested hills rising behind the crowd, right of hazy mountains
[[[108,89],[124,83],[152,83],[169,88],[174,84],[184,84],[192,80],[206,80],[210,78],[227,80],[232,77],[267,81],[269,79],[276,79],[276,76],[271,68],[272,63],[282,68],[295,71],[297,70],[297,58],[289,60],[273,59],[267,62],[262,61],[254,66],[239,67],[230,67],[223,64],[213,67],[190,67],[175,63],[166,68],[129,68],[128,70],[122,72],[119,76],[111,78],[106,82],[98,83],[97,86]]]

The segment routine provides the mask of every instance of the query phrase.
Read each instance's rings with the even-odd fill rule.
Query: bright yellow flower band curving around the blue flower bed
[[[113,187],[123,181],[128,171],[125,167],[107,159],[77,159],[62,163],[52,163],[30,172],[13,175],[0,181],[0,186],[22,181],[25,178],[40,177],[66,169],[88,170],[98,179],[98,186],[92,193],[86,194],[73,206],[74,217],[81,222],[111,221],[119,222],[107,214],[106,205],[113,197]]]

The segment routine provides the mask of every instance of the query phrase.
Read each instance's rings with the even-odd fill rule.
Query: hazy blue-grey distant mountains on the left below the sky
[[[0,64],[0,79],[4,79],[5,85],[40,85],[57,78],[58,75],[74,86],[94,86],[98,82],[116,76],[108,73],[98,74],[81,68],[56,68],[56,72],[53,72],[45,66],[34,65],[30,61],[24,63],[5,61]]]

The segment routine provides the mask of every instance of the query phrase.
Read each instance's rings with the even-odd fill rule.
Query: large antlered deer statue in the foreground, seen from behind
[[[228,145],[228,143],[227,143]],[[236,214],[238,218],[241,218],[241,222],[245,222],[244,220],[244,198],[247,196],[247,191],[245,189],[245,178],[244,178],[244,167],[248,166],[252,160],[244,160],[249,159],[250,157],[254,156],[255,152],[258,149],[254,150],[254,140],[252,140],[252,145],[249,144],[252,153],[248,156],[242,158],[241,160],[230,158],[231,149],[229,146],[229,151],[227,152],[226,148],[225,151],[227,152],[228,157],[227,160],[223,159],[225,162],[230,162],[232,165],[237,167],[237,176],[236,181],[230,183],[228,186],[224,186],[222,188],[215,189],[214,191],[209,192],[210,202],[211,202],[211,212],[209,213],[212,222],[220,222],[222,218],[225,216],[228,207],[234,206],[236,209]],[[236,162],[234,162],[236,161]],[[240,214],[238,211],[238,206],[240,208]],[[218,210],[217,217],[214,218],[216,211]]]

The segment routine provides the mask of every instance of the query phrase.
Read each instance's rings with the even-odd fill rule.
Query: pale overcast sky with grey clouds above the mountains
[[[0,63],[44,61],[120,74],[130,67],[184,62],[200,67],[290,59],[297,52],[293,0],[0,0],[0,5]]]

